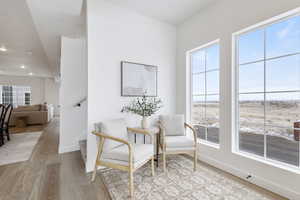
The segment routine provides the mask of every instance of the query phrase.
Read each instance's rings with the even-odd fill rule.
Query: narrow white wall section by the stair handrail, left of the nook
[[[85,56],[84,39],[62,37],[59,153],[79,150],[78,141],[86,133],[86,102],[79,108],[74,107],[87,95]]]

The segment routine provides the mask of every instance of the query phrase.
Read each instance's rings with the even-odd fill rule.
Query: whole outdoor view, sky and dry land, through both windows
[[[300,166],[299,24],[298,16],[236,37],[239,151],[293,166]],[[192,123],[216,144],[231,134],[219,129],[219,50],[213,44],[191,55]]]

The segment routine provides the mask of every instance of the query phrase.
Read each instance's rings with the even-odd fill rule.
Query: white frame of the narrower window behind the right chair
[[[194,53],[194,52],[196,52],[196,51],[199,51],[199,50],[201,50],[201,49],[205,49],[205,48],[208,48],[208,47],[210,47],[210,46],[213,46],[213,45],[215,45],[215,44],[218,44],[219,45],[219,68],[218,69],[214,69],[214,70],[205,70],[204,72],[202,72],[202,73],[204,73],[204,74],[206,74],[207,72],[210,72],[210,71],[218,71],[219,72],[219,93],[218,93],[218,95],[219,95],[219,103],[220,103],[220,100],[221,100],[221,94],[220,94],[220,89],[221,89],[221,87],[220,87],[220,65],[221,65],[221,54],[220,54],[220,47],[221,47],[221,45],[220,45],[220,39],[216,39],[216,40],[213,40],[213,41],[211,41],[211,42],[208,42],[208,43],[206,43],[206,44],[204,44],[204,45],[201,45],[201,46],[199,46],[199,47],[196,47],[196,48],[194,48],[194,49],[191,49],[191,50],[189,50],[189,51],[187,51],[186,52],[186,66],[187,66],[187,73],[186,73],[186,78],[187,78],[187,80],[188,80],[188,82],[187,82],[187,91],[188,91],[188,94],[186,95],[187,96],[187,102],[188,102],[188,106],[186,107],[187,109],[186,109],[186,116],[187,116],[187,121],[188,122],[191,122],[192,120],[192,105],[193,105],[193,70],[192,70],[192,62],[191,62],[191,58],[192,58],[192,53]],[[207,87],[207,86],[205,86],[205,87]],[[207,94],[206,94],[207,95]],[[211,95],[211,94],[209,94],[209,95]],[[220,124],[220,106],[219,106],[219,124]],[[194,125],[194,124],[193,124]],[[220,127],[219,127],[219,143],[213,143],[213,142],[210,142],[210,141],[208,141],[207,140],[207,137],[206,137],[206,140],[204,140],[204,139],[201,139],[201,138],[199,138],[199,137],[197,137],[197,141],[198,141],[198,143],[200,143],[200,144],[203,144],[203,145],[206,145],[206,146],[209,146],[209,147],[213,147],[213,148],[215,148],[215,149],[220,149]]]

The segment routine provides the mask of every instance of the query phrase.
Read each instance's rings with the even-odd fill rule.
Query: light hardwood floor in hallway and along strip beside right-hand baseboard
[[[91,174],[85,174],[79,151],[58,154],[58,131],[59,124],[56,119],[45,127],[30,160],[0,166],[0,200],[110,200],[99,175],[94,183],[90,183]],[[199,162],[199,165],[206,164]],[[211,168],[273,197],[274,200],[285,200],[228,173]]]

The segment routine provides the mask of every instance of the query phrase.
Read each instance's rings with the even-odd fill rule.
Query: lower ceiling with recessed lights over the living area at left
[[[7,48],[7,52],[0,51],[0,74],[52,75],[24,0],[1,1],[0,27],[0,46]]]

